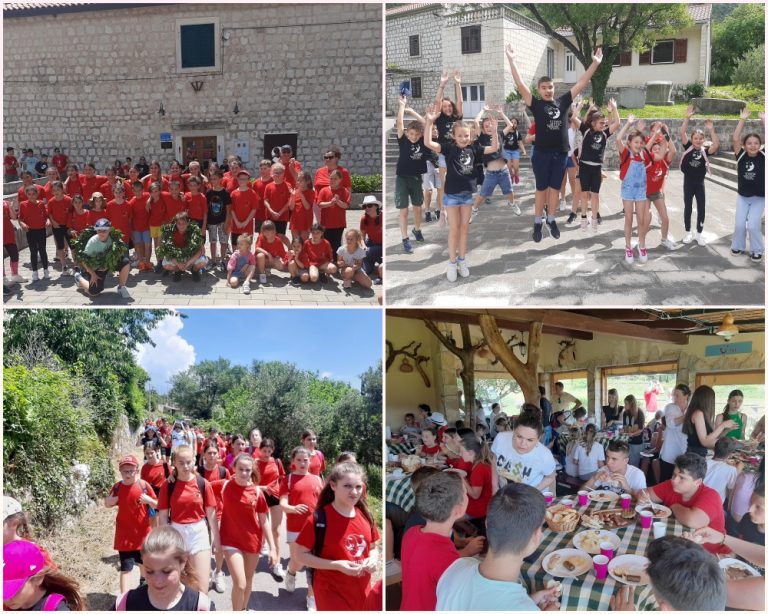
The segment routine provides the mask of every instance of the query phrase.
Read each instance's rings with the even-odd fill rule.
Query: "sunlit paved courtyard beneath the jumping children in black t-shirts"
[[[491,204],[483,205],[470,226],[467,261],[470,277],[451,283],[446,279],[448,260],[446,228],[436,222],[422,226],[424,243],[411,240],[413,254],[401,244],[394,202],[394,168],[387,168],[386,303],[440,307],[500,307],[515,305],[763,305],[764,263],[748,256],[733,256],[730,241],[736,209],[736,193],[711,182],[706,184],[707,245],[696,242],[677,251],[660,246],[656,217],[646,245],[649,260],[624,261],[624,216],[617,171],[600,191],[603,223],[598,231],[566,227],[568,212],[558,212],[561,236],[555,240],[544,226],[544,238],[534,243],[533,177],[530,167],[521,169],[524,187],[516,202],[523,210],[516,216],[496,190]],[[682,174],[667,178],[667,209],[670,234],[680,241],[683,227]],[[570,194],[568,197],[570,211]],[[694,223],[695,223],[694,211]],[[577,218],[578,219],[578,218]],[[409,221],[409,232],[413,227]],[[635,233],[633,244],[636,244]]]

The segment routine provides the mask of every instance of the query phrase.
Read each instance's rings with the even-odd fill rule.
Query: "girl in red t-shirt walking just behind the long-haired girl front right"
[[[291,553],[285,579],[285,588],[289,593],[296,589],[296,572],[302,568],[297,561],[296,538],[307,519],[312,517],[323,490],[320,477],[309,473],[309,450],[302,446],[294,448],[291,452],[291,467],[293,470],[290,475],[280,483],[280,507],[286,514],[286,541]],[[312,583],[307,584],[309,597],[314,598]]]

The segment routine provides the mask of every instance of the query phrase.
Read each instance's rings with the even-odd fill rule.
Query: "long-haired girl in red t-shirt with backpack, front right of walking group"
[[[325,512],[322,550],[314,554],[315,522],[296,538],[299,563],[314,568],[312,589],[318,610],[360,610],[371,590],[379,532],[365,501],[365,472],[356,463],[336,465],[320,493],[317,510]],[[312,603],[307,603],[312,609]]]

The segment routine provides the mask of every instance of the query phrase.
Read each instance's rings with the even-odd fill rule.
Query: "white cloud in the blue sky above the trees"
[[[136,359],[149,373],[150,384],[160,393],[168,392],[171,377],[195,364],[195,348],[179,336],[184,321],[178,316],[168,316],[149,336],[155,347],[146,343],[139,346]]]

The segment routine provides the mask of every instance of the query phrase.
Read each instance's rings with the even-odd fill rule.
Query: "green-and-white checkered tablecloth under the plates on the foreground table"
[[[577,508],[580,512],[594,511],[612,507],[615,504],[592,503],[589,507]],[[544,529],[544,534],[538,549],[529,558],[535,559],[535,563],[523,564],[521,578],[528,586],[528,592],[542,590],[548,580],[553,576],[546,573],[542,567],[544,558],[555,550],[560,548],[573,548],[571,540],[579,531],[586,527],[579,526],[570,533],[558,533]],[[673,517],[667,519],[667,535],[681,535],[685,527],[677,522]],[[645,556],[645,550],[648,544],[653,541],[653,529],[643,529],[640,526],[640,520],[623,529],[610,529],[621,538],[621,545],[616,551],[620,554],[639,554]],[[594,570],[577,578],[554,578],[559,580],[563,586],[563,595],[560,598],[561,610],[608,610],[610,608],[610,599],[616,594],[621,583],[616,582],[610,575],[605,580],[598,580]],[[635,603],[638,610],[658,609],[656,600],[653,597],[650,584],[638,586],[635,588]]]

